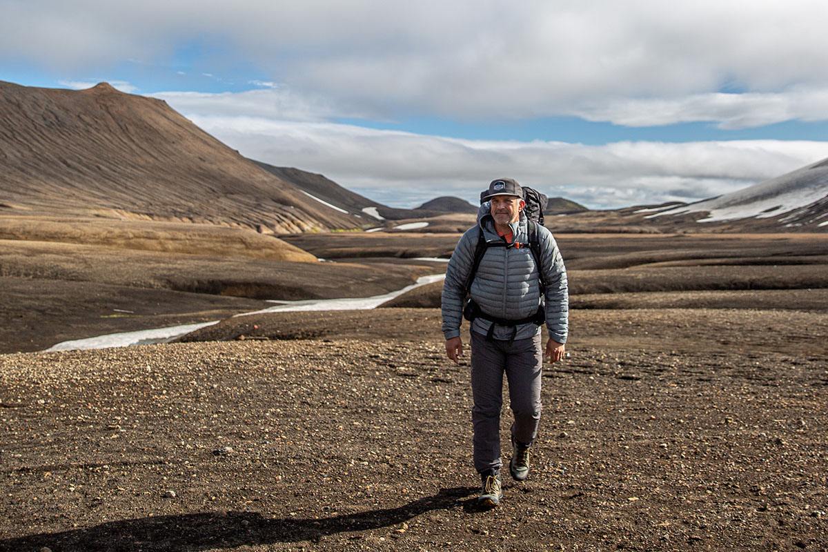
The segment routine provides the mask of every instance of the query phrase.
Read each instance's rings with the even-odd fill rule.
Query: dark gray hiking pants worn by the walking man
[[[500,410],[503,406],[503,372],[509,384],[514,421],[512,437],[532,444],[541,420],[543,350],[541,333],[512,344],[501,339],[487,341],[471,332],[471,391],[474,407],[474,468],[479,472],[500,469]]]

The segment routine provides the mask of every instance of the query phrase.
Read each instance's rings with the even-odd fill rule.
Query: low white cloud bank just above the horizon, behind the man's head
[[[349,190],[398,207],[414,207],[443,194],[474,203],[489,180],[500,176],[594,209],[695,201],[828,156],[828,142],[585,146],[459,140],[330,122],[188,117],[244,156],[320,172]]]

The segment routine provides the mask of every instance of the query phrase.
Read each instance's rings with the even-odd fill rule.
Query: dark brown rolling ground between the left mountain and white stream
[[[382,295],[436,271],[429,262],[284,262],[0,242],[0,353],[224,319],[261,310],[264,299]]]

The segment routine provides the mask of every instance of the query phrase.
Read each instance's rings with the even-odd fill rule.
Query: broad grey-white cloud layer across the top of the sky
[[[3,58],[89,74],[201,43],[211,74],[240,59],[262,82],[373,118],[826,118],[822,0],[0,2]],[[803,94],[818,109],[798,106]]]

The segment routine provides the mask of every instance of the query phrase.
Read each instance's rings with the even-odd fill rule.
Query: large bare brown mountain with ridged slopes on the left
[[[0,81],[0,204],[65,214],[219,223],[262,232],[358,228],[165,102]]]

